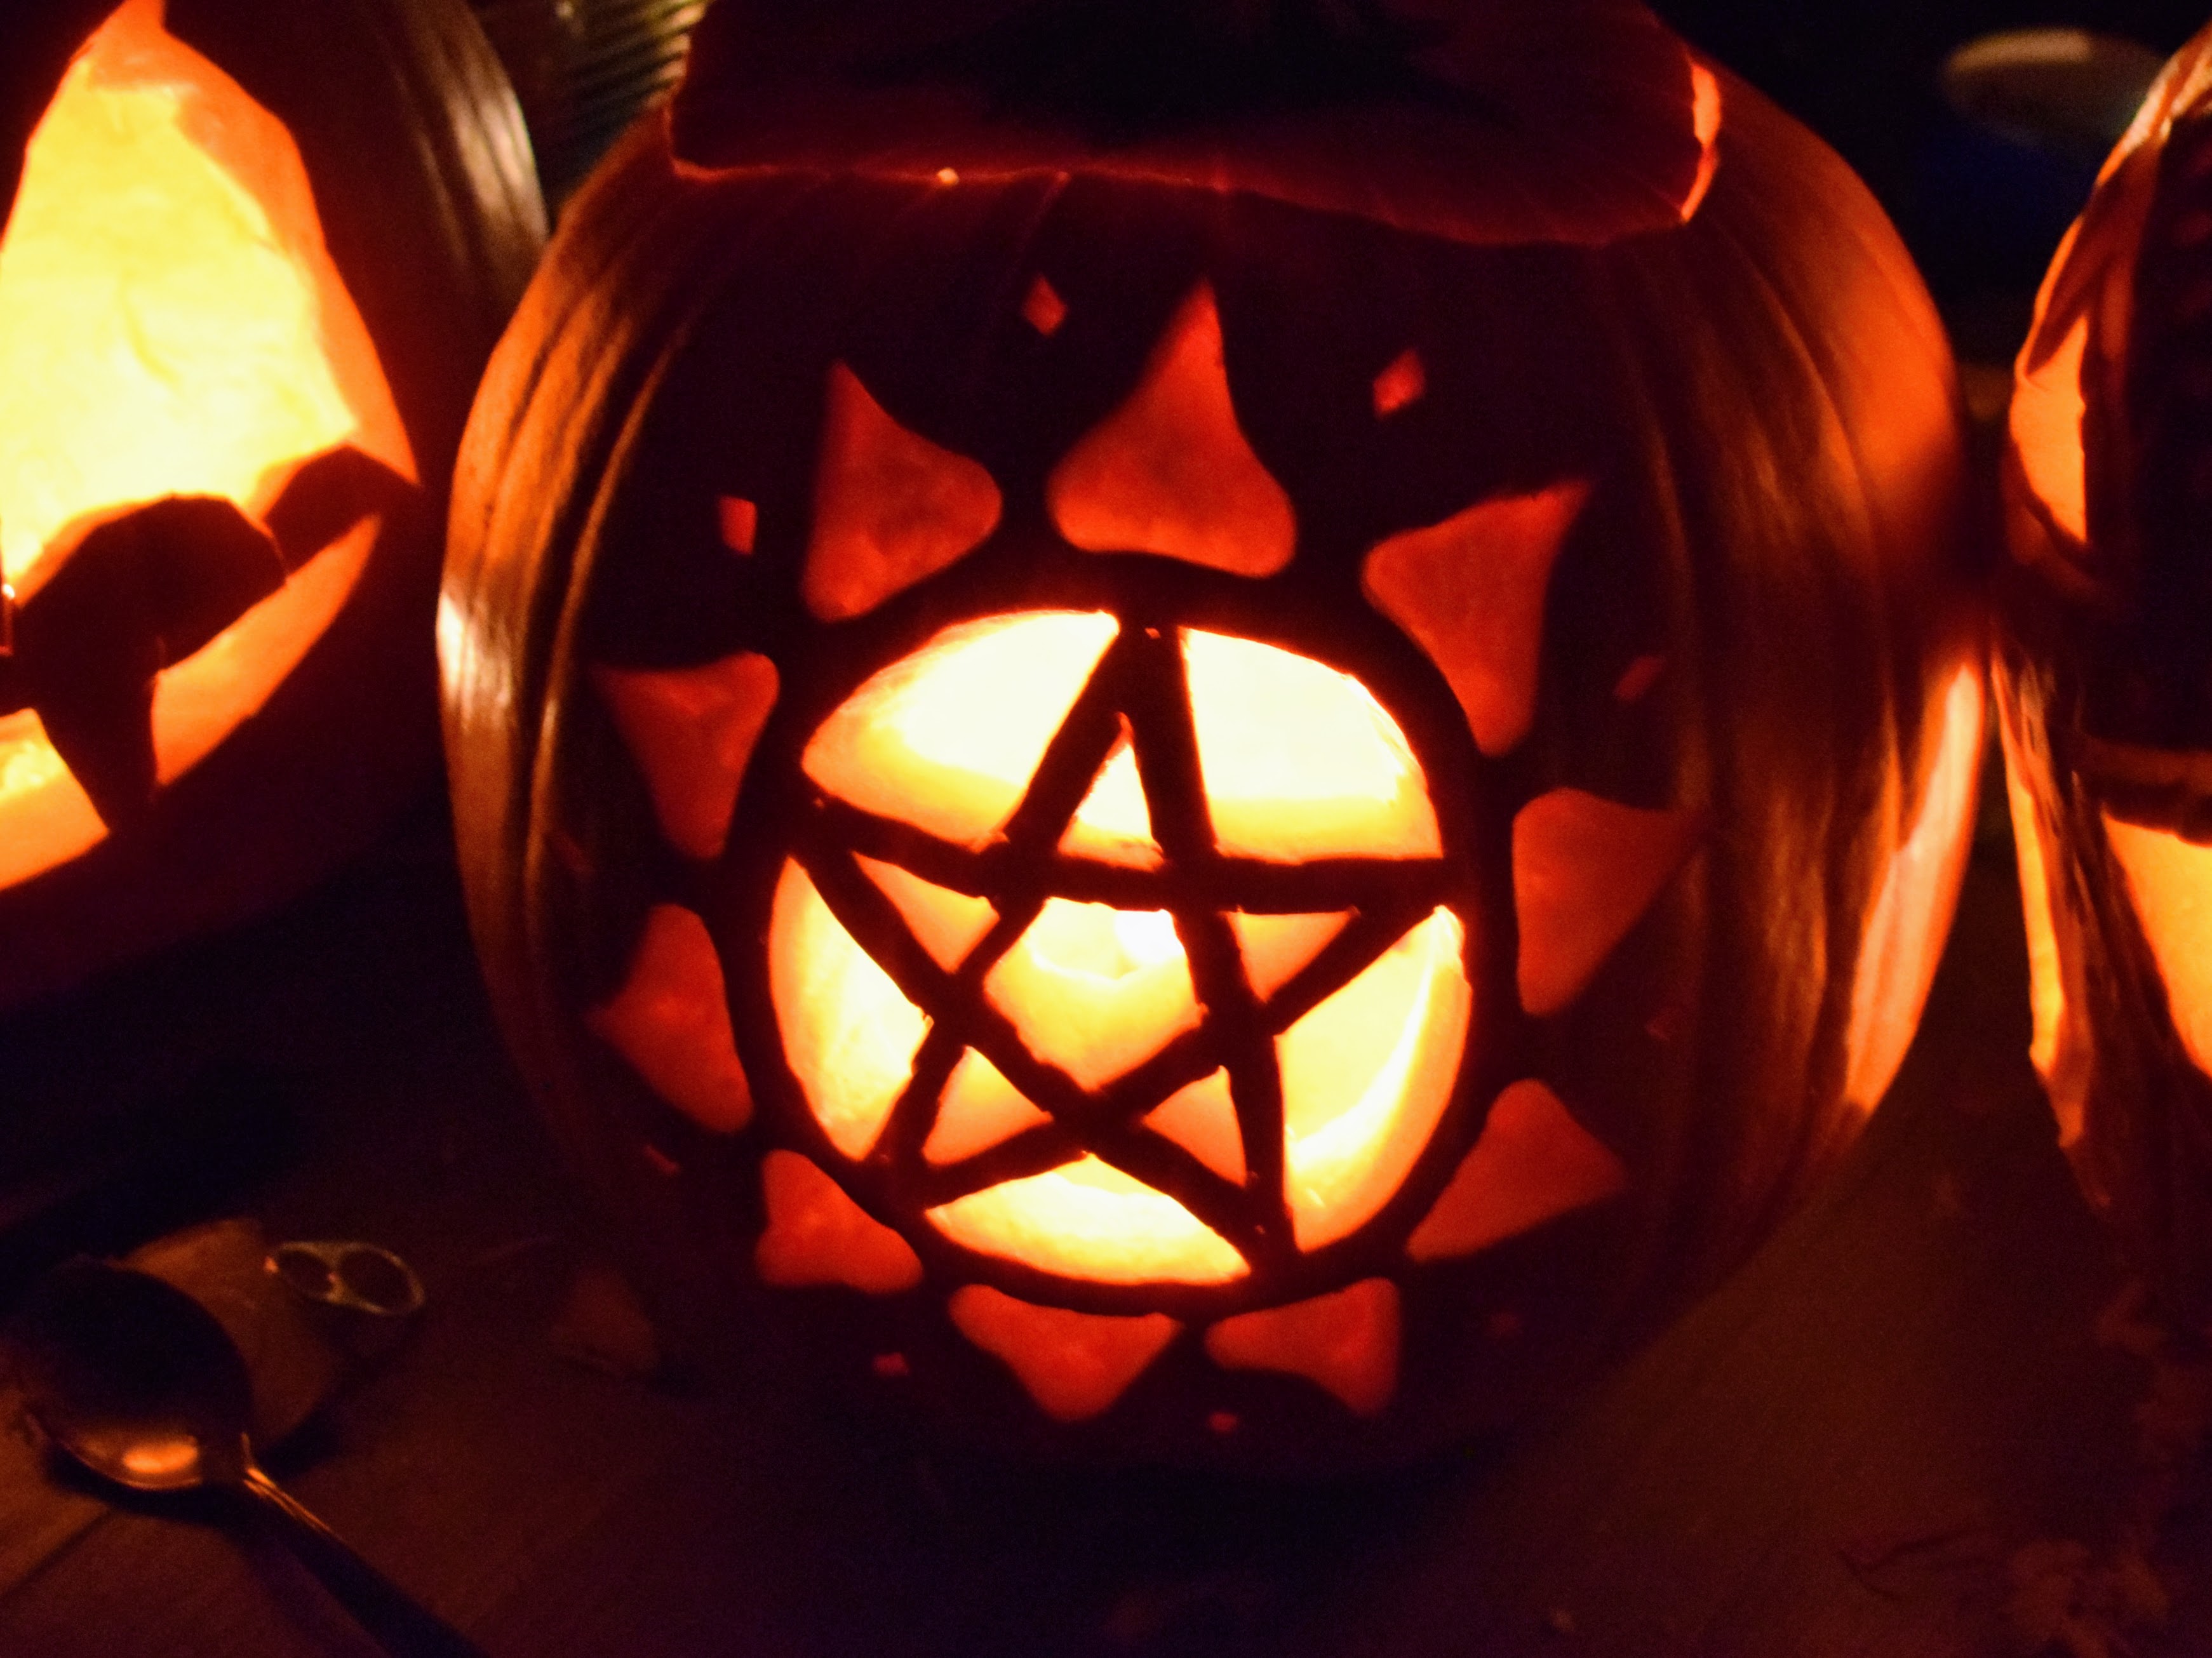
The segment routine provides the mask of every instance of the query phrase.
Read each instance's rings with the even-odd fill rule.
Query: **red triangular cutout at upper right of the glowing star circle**
[[[1590,486],[1500,495],[1367,553],[1367,599],[1427,652],[1489,756],[1511,754],[1535,718],[1544,592]]]

